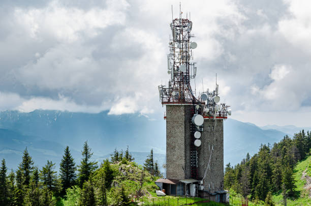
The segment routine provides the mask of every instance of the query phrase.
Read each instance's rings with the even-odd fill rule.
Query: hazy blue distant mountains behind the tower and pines
[[[126,150],[143,164],[150,150],[160,166],[165,162],[166,123],[163,116],[135,114],[108,115],[107,111],[91,114],[35,110],[0,112],[0,158],[15,169],[25,147],[35,164],[42,167],[47,160],[57,168],[66,145],[79,163],[84,141],[88,141],[94,159],[102,162],[115,148]],[[246,153],[254,154],[261,143],[273,143],[285,133],[263,130],[254,124],[228,119],[224,123],[224,163],[236,164]]]

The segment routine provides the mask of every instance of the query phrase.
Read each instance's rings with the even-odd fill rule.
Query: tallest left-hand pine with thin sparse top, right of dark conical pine
[[[82,188],[83,183],[88,181],[92,172],[97,169],[97,162],[91,162],[90,158],[92,157],[93,153],[91,153],[91,149],[89,148],[87,141],[84,142],[83,151],[82,151],[82,160],[81,164],[78,166],[79,169],[79,183],[80,187]]]

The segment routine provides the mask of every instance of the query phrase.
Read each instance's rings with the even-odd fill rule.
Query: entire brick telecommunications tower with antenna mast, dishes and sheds
[[[159,85],[160,101],[166,106],[166,179],[156,183],[170,195],[226,199],[224,183],[223,121],[231,110],[220,103],[219,86],[196,97],[191,79],[193,62],[192,21],[182,18],[170,24],[168,86]]]

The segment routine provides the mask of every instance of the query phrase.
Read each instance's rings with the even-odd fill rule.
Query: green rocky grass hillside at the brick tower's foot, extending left
[[[107,191],[108,205],[118,205],[121,200],[121,188],[128,197],[130,205],[207,205],[207,206],[224,206],[225,204],[208,201],[198,197],[158,197],[155,190],[158,186],[154,181],[157,177],[150,175],[148,171],[143,171],[141,165],[135,162],[116,162],[110,164],[114,173],[111,188]],[[100,198],[101,172],[103,167],[97,169],[92,177],[92,184],[95,191],[96,199]],[[67,190],[67,198],[59,198],[57,206],[77,205],[81,198],[81,189],[77,186]]]

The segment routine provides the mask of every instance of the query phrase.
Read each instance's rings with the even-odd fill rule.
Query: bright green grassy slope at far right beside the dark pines
[[[307,173],[311,174],[311,156],[307,159],[297,163],[294,168],[294,179],[295,179],[295,198],[290,198],[287,200],[288,206],[300,206],[300,205],[311,205],[311,199],[308,197],[308,192],[303,188],[305,185],[305,180],[301,179],[302,172],[307,168]],[[275,205],[284,205],[283,204],[283,195],[282,194],[274,194],[273,201]]]

